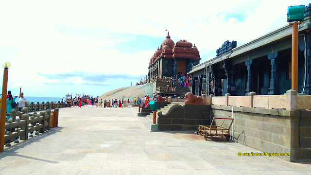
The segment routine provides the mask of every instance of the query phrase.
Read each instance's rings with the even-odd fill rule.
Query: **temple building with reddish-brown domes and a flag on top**
[[[200,54],[195,44],[182,39],[174,43],[168,33],[150,59],[148,77],[163,78],[176,77],[180,73],[187,74],[199,62]]]

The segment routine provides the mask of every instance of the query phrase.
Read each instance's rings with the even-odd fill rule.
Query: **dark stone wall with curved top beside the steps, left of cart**
[[[165,114],[158,112],[158,130],[197,130],[200,124],[210,123],[210,105],[170,106]]]

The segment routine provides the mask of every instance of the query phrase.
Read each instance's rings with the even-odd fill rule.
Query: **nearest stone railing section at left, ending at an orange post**
[[[14,109],[7,115],[10,115],[10,119],[5,122],[4,131],[4,143],[5,146],[11,146],[11,142],[18,143],[20,140],[27,140],[28,137],[34,137],[39,133],[44,133],[50,130],[51,127],[58,125],[58,109],[42,111],[39,114],[34,112],[28,114],[27,109],[21,109],[21,112]],[[18,117],[18,118],[17,118]],[[29,133],[31,135],[29,135]]]

